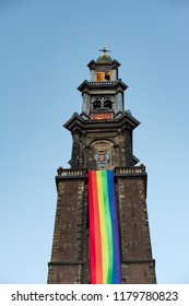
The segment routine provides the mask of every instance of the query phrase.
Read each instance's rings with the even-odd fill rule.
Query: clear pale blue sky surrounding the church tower
[[[189,283],[189,3],[0,0],[0,283],[46,283],[76,87],[107,44],[141,121],[158,283]]]

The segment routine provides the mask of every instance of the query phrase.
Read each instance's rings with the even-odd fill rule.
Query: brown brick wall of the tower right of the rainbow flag
[[[145,184],[145,175],[117,177],[123,283],[155,283]]]

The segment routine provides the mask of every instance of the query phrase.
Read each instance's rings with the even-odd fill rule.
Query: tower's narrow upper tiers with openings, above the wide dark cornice
[[[79,91],[82,93],[82,111],[93,118],[114,118],[125,110],[125,91],[128,85],[118,79],[120,63],[113,60],[106,48],[97,60],[88,62],[90,81],[84,81]]]

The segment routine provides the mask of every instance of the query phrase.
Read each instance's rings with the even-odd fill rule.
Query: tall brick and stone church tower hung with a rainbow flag
[[[156,279],[146,210],[147,175],[143,164],[137,165],[139,160],[132,152],[132,132],[140,122],[125,110],[128,85],[119,79],[120,63],[105,48],[101,51],[97,60],[87,64],[90,80],[78,89],[82,111],[74,113],[64,123],[72,134],[72,153],[70,168],[58,168],[56,176],[58,201],[48,283],[153,284]],[[105,189],[99,181],[105,181]],[[94,185],[98,189],[94,190]],[[108,195],[114,207],[108,207]],[[97,208],[99,198],[103,209]],[[108,219],[116,225],[109,225]],[[102,249],[106,252],[106,240],[111,259],[102,259],[99,232],[107,234],[107,238],[102,236]],[[116,248],[119,263],[113,259]],[[99,257],[104,263],[98,262]],[[110,281],[101,276],[102,264]],[[120,281],[119,276],[114,279],[110,270],[120,270]]]

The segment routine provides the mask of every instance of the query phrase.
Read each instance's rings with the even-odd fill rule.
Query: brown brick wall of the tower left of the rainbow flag
[[[58,180],[58,202],[55,221],[48,283],[81,283],[86,224],[85,179]]]

